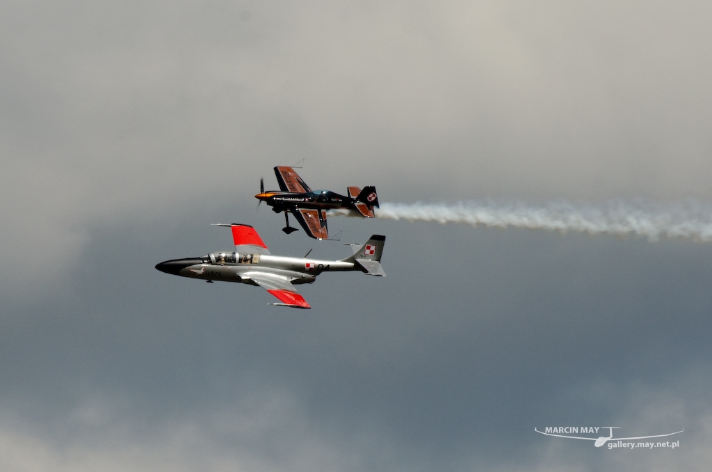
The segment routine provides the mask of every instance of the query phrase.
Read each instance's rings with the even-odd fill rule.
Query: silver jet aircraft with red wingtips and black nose
[[[249,225],[232,223],[216,226],[232,229],[234,252],[211,252],[203,257],[173,259],[157,264],[156,269],[166,274],[209,282],[222,280],[261,286],[282,302],[274,305],[292,308],[311,308],[297,293],[294,285],[311,284],[322,272],[359,270],[369,275],[385,276],[380,263],[385,236],[372,235],[365,245],[351,245],[354,250],[351,257],[340,261],[324,261],[273,256],[262,238]]]

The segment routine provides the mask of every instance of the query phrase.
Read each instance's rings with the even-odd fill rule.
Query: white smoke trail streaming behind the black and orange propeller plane
[[[330,212],[346,215],[347,212]],[[618,237],[685,238],[712,242],[712,208],[697,203],[656,207],[640,203],[611,202],[603,207],[565,202],[545,205],[525,203],[382,203],[376,217],[388,220],[467,223],[473,226],[528,228],[558,232],[585,232]]]

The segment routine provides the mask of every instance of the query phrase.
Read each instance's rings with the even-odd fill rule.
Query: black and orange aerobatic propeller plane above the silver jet
[[[349,187],[349,195],[345,196],[326,190],[313,191],[294,169],[288,166],[276,166],[274,173],[280,190],[266,192],[264,181],[261,179],[260,193],[255,195],[255,198],[260,200],[260,203],[266,202],[275,213],[284,212],[287,225],[282,228],[282,231],[287,234],[297,230],[289,225],[289,212],[310,237],[328,240],[326,210],[347,208],[366,218],[374,218],[373,209],[379,208],[378,195],[373,186],[365,187],[363,190]]]

